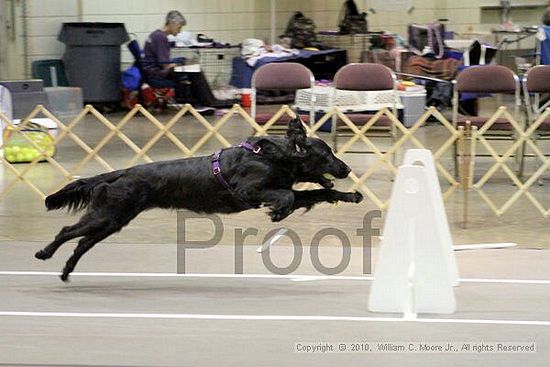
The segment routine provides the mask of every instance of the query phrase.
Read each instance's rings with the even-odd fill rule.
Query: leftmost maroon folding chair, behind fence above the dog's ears
[[[302,64],[295,62],[275,62],[262,65],[252,75],[250,109],[252,119],[262,125],[273,117],[273,113],[258,113],[258,90],[296,92],[298,89],[310,88],[312,92],[309,94],[309,114],[302,116],[302,121],[306,123],[309,122],[312,125],[315,121],[314,86],[315,77],[313,73]],[[289,116],[281,116],[281,118],[271,127],[271,130],[274,132],[285,130],[289,120]]]

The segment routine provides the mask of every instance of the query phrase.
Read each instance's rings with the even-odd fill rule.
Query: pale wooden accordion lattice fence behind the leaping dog
[[[30,119],[38,116],[39,114],[55,121],[59,127],[59,133],[55,137],[52,143],[53,145],[59,145],[62,141],[65,143],[70,143],[71,146],[78,147],[78,149],[82,151],[84,157],[76,164],[69,167],[66,162],[58,160],[55,157],[48,156],[48,147],[39,147],[35,142],[23,134],[22,136],[25,137],[28,143],[38,150],[40,154],[30,163],[17,166],[2,158],[4,169],[10,172],[12,177],[4,180],[0,191],[0,200],[5,199],[13,188],[19,183],[26,185],[32,192],[43,200],[48,193],[47,191],[55,191],[67,182],[73,180],[75,176],[78,176],[78,174],[89,166],[92,161],[99,164],[102,170],[112,171],[114,168],[105,159],[105,147],[110,142],[117,142],[118,144],[122,144],[124,147],[130,149],[132,155],[126,162],[125,166],[132,166],[140,161],[152,162],[154,159],[150,156],[151,149],[157,144],[161,144],[161,141],[166,140],[176,147],[177,151],[181,153],[181,156],[183,157],[191,157],[199,154],[200,150],[204,149],[207,142],[212,139],[215,139],[217,144],[222,147],[229,147],[231,146],[231,143],[222,134],[222,128],[226,126],[230,120],[233,121],[234,119],[241,119],[245,122],[245,126],[250,127],[250,130],[243,130],[244,138],[247,135],[268,134],[270,128],[274,127],[277,121],[285,115],[295,117],[294,111],[292,111],[288,106],[283,106],[276,111],[267,123],[259,125],[250,117],[247,111],[242,109],[240,106],[235,105],[224,116],[210,122],[192,106],[185,105],[181,110],[177,111],[175,115],[170,117],[168,121],[161,122],[156,116],[152,115],[145,108],[137,105],[134,109],[124,115],[117,123],[110,121],[92,106],[86,106],[80,114],[68,124],[59,121],[43,106],[37,106],[34,111],[17,126],[13,125],[13,123],[1,113],[0,119],[4,122],[4,124],[17,133],[26,127]],[[146,120],[155,128],[153,134],[148,137],[146,143],[141,146],[133,141],[128,134],[123,131],[123,128],[138,116],[141,116],[141,118]],[[471,139],[468,139],[470,144],[465,144],[465,134],[463,129],[455,128],[435,108],[426,110],[426,112],[412,127],[406,128],[389,109],[379,110],[365,124],[356,125],[341,110],[334,107],[313,125],[306,127],[308,135],[321,136],[319,129],[334,116],[340,119],[344,126],[351,131],[351,135],[339,146],[336,154],[343,157],[351,151],[352,146],[357,146],[359,144],[370,151],[374,157],[374,161],[370,162],[365,167],[362,167],[363,169],[360,174],[353,172],[351,173],[350,177],[352,184],[348,189],[362,191],[380,209],[387,208],[389,197],[381,197],[375,192],[372,186],[373,175],[380,170],[386,170],[389,171],[391,175],[395,175],[397,172],[397,166],[393,157],[398,151],[405,149],[407,145],[415,148],[426,148],[427,144],[422,141],[422,138],[419,135],[421,132],[420,129],[425,126],[428,119],[430,119],[430,121],[437,121],[438,124],[441,125],[440,128],[443,129],[446,134],[446,137],[441,139],[435,148],[432,146],[431,149],[440,177],[442,177],[442,179],[444,179],[448,184],[448,188],[443,193],[445,200],[451,197],[456,192],[457,188],[462,186],[463,192],[474,190],[479,193],[483,199],[483,202],[485,202],[497,216],[507,212],[512,204],[520,200],[521,197],[525,197],[543,216],[547,217],[550,215],[550,208],[546,209],[543,203],[541,203],[540,200],[537,200],[537,198],[530,192],[533,184],[537,182],[543,173],[550,167],[550,159],[544,155],[543,151],[534,140],[537,129],[545,119],[550,117],[550,110],[545,111],[537,119],[537,121],[535,121],[527,130],[524,130],[521,127],[521,124],[519,124],[505,108],[500,108],[495,112],[495,115],[488,121],[488,123],[479,129],[479,131],[475,128],[472,130]],[[174,126],[178,122],[188,123],[188,121],[183,121],[184,117],[191,118],[205,129],[205,133],[192,143],[184,143],[182,139],[178,138],[178,136],[176,136],[173,132]],[[511,122],[511,125],[517,135],[515,142],[511,143],[511,146],[503,154],[497,153],[486,138],[486,134],[491,126],[490,124],[496,121],[499,117],[506,117]],[[79,136],[75,133],[75,128],[82,124],[85,119],[89,120],[90,118],[95,119],[107,129],[107,134],[100,139],[99,142],[93,145],[87,143],[84,136]],[[371,137],[370,134],[372,130],[376,129],[376,124],[382,118],[388,119],[393,125],[395,131],[398,133],[393,143],[390,146],[386,146],[385,150],[375,139]],[[537,168],[537,170],[525,181],[522,181],[517,173],[513,172],[513,170],[509,167],[509,161],[512,156],[523,145],[528,146],[541,162],[541,165]],[[489,152],[491,167],[479,179],[475,180],[473,178],[473,165],[476,161],[475,156],[477,146],[482,146]],[[458,147],[456,151],[455,147]],[[0,146],[0,149],[2,148],[3,146]],[[444,160],[446,159],[445,157],[452,156],[454,159],[456,152],[458,152],[458,155],[461,156],[463,158],[462,160],[466,162],[460,170],[460,172],[462,172],[461,183],[457,181],[455,176],[447,167],[445,167],[444,164]],[[54,168],[56,174],[60,177],[59,182],[56,182],[55,185],[48,190],[40,189],[36,182],[33,182],[32,175],[30,175],[33,168],[35,168],[36,165],[43,159],[46,159],[48,164]],[[469,165],[469,162],[472,163],[471,166]],[[492,201],[485,193],[485,190],[491,185],[490,179],[494,177],[498,170],[503,170],[516,188],[515,192],[507,198],[505,203],[500,207],[495,204],[494,201]]]

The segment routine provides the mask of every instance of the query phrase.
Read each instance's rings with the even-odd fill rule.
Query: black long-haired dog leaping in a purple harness
[[[64,242],[82,237],[63,269],[61,279],[66,281],[96,243],[152,208],[237,213],[267,206],[271,220],[280,221],[298,208],[309,210],[320,202],[359,203],[360,193],[331,189],[332,180],[345,178],[350,171],[325,142],[306,137],[296,119],[289,123],[286,138],[251,137],[214,156],[144,164],[68,184],[46,198],[48,210],[87,207],[87,212],[35,257],[49,259]],[[292,190],[298,182],[318,183],[323,189]]]

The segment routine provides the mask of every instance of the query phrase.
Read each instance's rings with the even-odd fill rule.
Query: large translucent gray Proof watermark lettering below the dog
[[[275,228],[266,233],[253,226],[234,228],[231,239],[231,245],[234,247],[233,272],[234,274],[244,273],[244,245],[246,240],[252,239],[257,243],[269,244],[275,237],[284,236],[290,240],[293,247],[293,256],[288,265],[284,267],[276,265],[271,258],[269,246],[265,246],[265,251],[261,252],[262,263],[272,274],[287,275],[294,273],[302,263],[303,257],[308,256],[308,254],[304,254],[306,246],[309,247],[311,263],[320,274],[340,274],[350,265],[352,243],[360,243],[362,248],[363,274],[371,274],[372,241],[374,237],[380,235],[380,229],[374,225],[374,220],[381,218],[381,216],[382,212],[380,210],[372,210],[363,216],[362,225],[358,226],[359,228],[344,231],[336,227],[322,227],[313,234],[311,239],[302,238],[296,231],[284,227]],[[184,274],[186,272],[186,257],[189,251],[201,251],[220,244],[224,234],[226,234],[226,228],[222,218],[218,215],[201,215],[189,211],[178,211],[177,220],[177,272]],[[194,223],[197,220],[210,222],[212,229],[208,231],[208,238],[196,239],[196,236],[193,236]],[[329,266],[321,260],[319,244],[327,237],[337,239],[342,248],[341,258],[336,265]]]

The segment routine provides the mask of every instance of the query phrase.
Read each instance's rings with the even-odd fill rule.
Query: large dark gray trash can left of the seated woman
[[[123,23],[63,23],[63,62],[70,86],[82,88],[86,103],[121,100],[120,45],[129,40]]]

